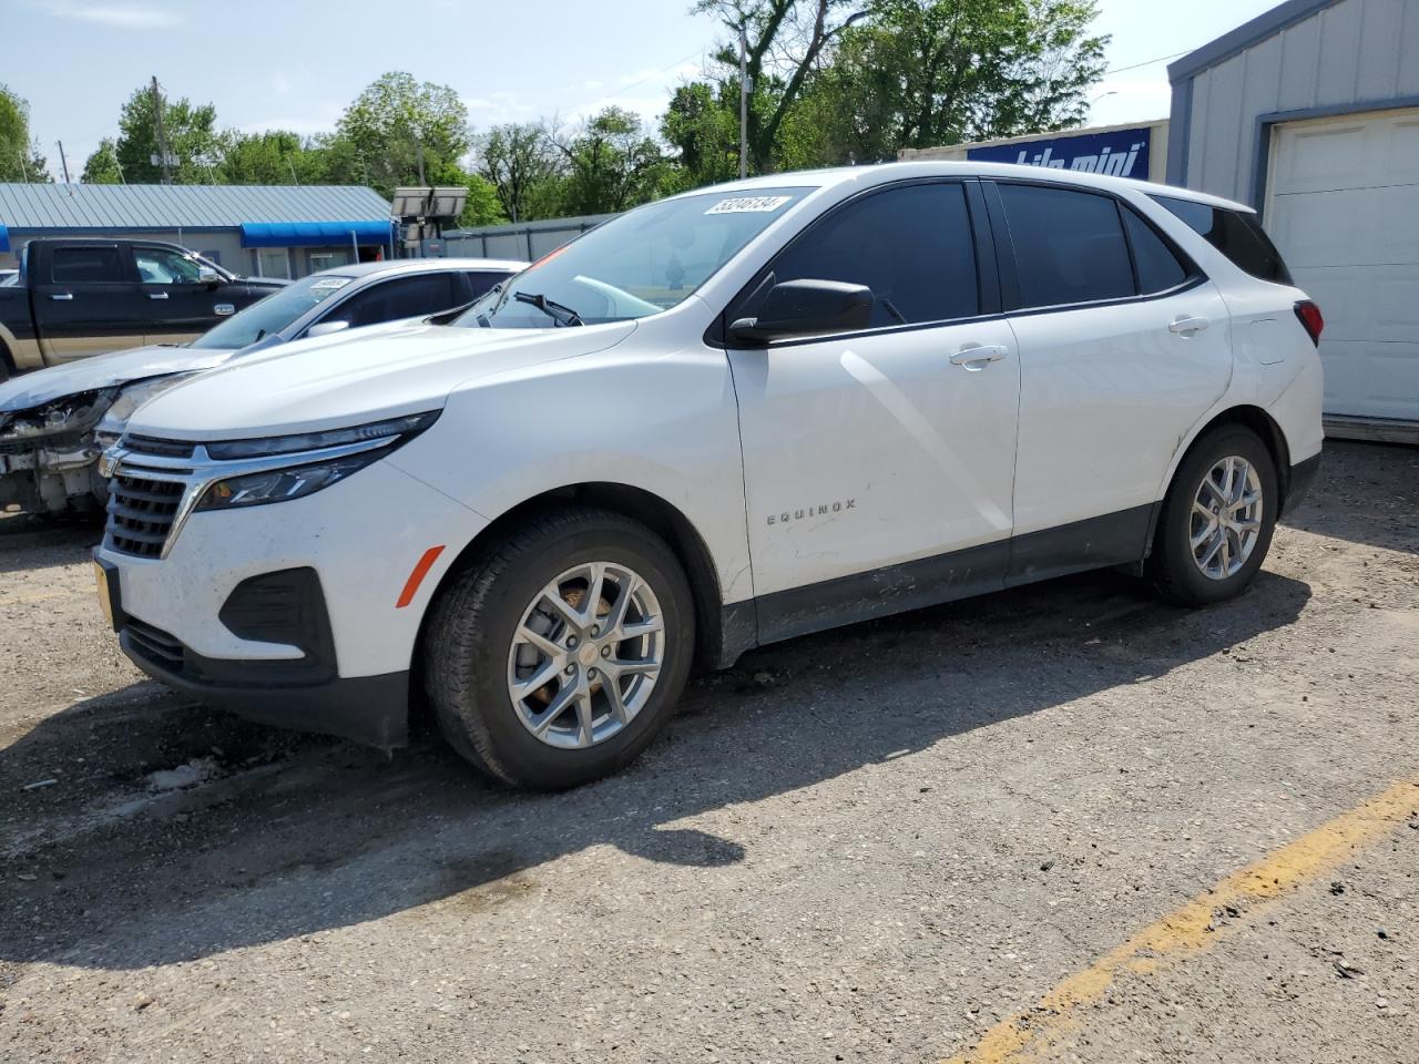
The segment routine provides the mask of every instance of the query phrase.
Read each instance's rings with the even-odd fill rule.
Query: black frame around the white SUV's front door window
[[[976,267],[976,314],[965,315],[959,318],[941,318],[928,322],[905,322],[895,325],[881,325],[871,329],[853,329],[849,332],[833,332],[833,333],[819,333],[815,336],[795,336],[782,340],[773,340],[768,345],[768,349],[775,350],[779,348],[793,348],[803,343],[822,343],[824,340],[839,340],[850,339],[854,336],[885,336],[895,332],[912,332],[917,329],[939,329],[946,325],[959,325],[962,322],[976,322],[986,321],[990,318],[999,318],[1003,314],[1002,306],[1002,291],[1000,291],[1000,272],[998,264],[998,250],[996,243],[992,238],[990,220],[988,216],[988,209],[985,199],[981,193],[981,183],[975,177],[914,177],[910,180],[890,182],[887,184],[878,184],[871,189],[864,189],[863,192],[849,196],[841,203],[834,203],[829,210],[819,214],[807,226],[793,234],[788,244],[780,247],[773,253],[773,257],[759,270],[755,271],[749,282],[745,284],[734,298],[725,305],[710,328],[705,331],[704,340],[711,348],[727,349],[732,346],[728,339],[729,322],[735,319],[742,304],[758,294],[762,288],[765,279],[773,272],[775,264],[786,254],[789,254],[799,241],[809,238],[809,235],[817,230],[820,226],[827,224],[840,211],[850,210],[854,204],[860,204],[873,196],[881,196],[891,192],[901,192],[905,189],[922,186],[922,184],[956,184],[961,186],[965,194],[966,206],[966,221],[971,226],[971,243],[975,253],[975,267]],[[832,278],[820,278],[832,279]]]

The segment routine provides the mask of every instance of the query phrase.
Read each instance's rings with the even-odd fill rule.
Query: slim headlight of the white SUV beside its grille
[[[314,495],[336,484],[352,472],[379,461],[390,451],[419,436],[438,419],[438,411],[410,414],[389,421],[375,421],[353,428],[333,428],[326,433],[301,433],[265,440],[233,440],[207,444],[207,455],[217,461],[233,461],[247,468],[214,481],[197,502],[199,511],[237,509],[285,502]],[[329,457],[302,462],[302,454],[338,451]],[[272,461],[291,455],[292,464]],[[253,470],[251,465],[270,468]]]

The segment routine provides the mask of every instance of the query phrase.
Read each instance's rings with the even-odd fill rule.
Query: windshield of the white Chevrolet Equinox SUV
[[[548,329],[668,311],[807,192],[718,192],[637,207],[494,288],[454,325]]]

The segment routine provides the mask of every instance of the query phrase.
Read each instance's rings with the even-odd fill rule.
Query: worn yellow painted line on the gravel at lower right
[[[1335,868],[1419,807],[1419,776],[1342,813],[1314,831],[1233,872],[1206,894],[1144,928],[1117,949],[1046,993],[1030,1012],[1002,1020],[965,1053],[944,1064],[1023,1064],[1080,1026],[1074,1013],[1104,999],[1121,975],[1149,975],[1202,953],[1218,941],[1216,914],[1273,901]],[[1225,926],[1225,925],[1219,925]]]

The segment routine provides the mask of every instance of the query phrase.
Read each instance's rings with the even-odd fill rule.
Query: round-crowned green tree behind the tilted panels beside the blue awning
[[[468,109],[447,85],[417,82],[393,71],[372,82],[345,109],[332,145],[341,169],[356,163],[362,184],[392,196],[400,184],[461,183],[460,159],[468,153]]]

